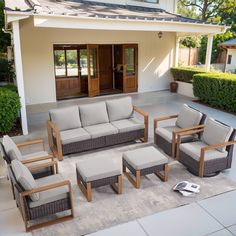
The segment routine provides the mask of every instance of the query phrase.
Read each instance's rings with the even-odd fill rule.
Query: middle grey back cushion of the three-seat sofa
[[[80,106],[80,116],[83,127],[109,122],[105,102]]]

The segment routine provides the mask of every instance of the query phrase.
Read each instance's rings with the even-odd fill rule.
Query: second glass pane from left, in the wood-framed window
[[[77,50],[66,50],[67,76],[78,76]]]

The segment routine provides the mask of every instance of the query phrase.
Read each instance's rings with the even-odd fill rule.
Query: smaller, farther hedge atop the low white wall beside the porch
[[[182,81],[186,83],[193,82],[193,76],[199,73],[204,73],[203,69],[196,67],[173,67],[171,73],[175,81]]]

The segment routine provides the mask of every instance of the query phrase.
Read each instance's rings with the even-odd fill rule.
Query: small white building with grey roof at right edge
[[[236,73],[236,38],[218,44],[218,47],[226,50],[225,72]]]

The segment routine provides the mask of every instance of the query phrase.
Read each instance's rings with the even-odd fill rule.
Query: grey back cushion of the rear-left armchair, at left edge
[[[22,155],[19,148],[16,146],[15,142],[8,136],[3,137],[3,146],[5,148],[6,154],[11,160],[22,160]]]

